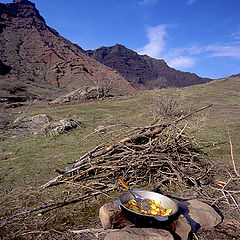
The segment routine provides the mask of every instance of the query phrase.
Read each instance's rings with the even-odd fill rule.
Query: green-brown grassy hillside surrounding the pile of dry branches
[[[1,217],[62,200],[68,197],[69,192],[77,191],[72,186],[45,190],[39,187],[58,175],[54,172],[56,168],[64,169],[67,163],[78,159],[103,141],[110,140],[110,135],[91,135],[97,126],[127,124],[136,127],[150,124],[153,120],[153,98],[166,93],[177,93],[182,100],[181,113],[184,114],[212,103],[213,107],[189,120],[188,131],[202,143],[203,150],[215,161],[231,163],[225,120],[230,129],[235,160],[240,166],[240,79],[213,81],[182,89],[145,91],[104,101],[62,106],[23,106],[11,110],[14,118],[46,113],[56,120],[73,118],[82,122],[83,127],[52,137],[24,132],[19,134],[19,129],[1,130]],[[86,139],[81,142],[84,138]],[[20,220],[14,221],[4,231],[9,231],[11,237],[16,237],[36,229],[44,231],[53,228],[62,231],[67,228],[96,226],[99,224],[96,213],[99,204],[104,201],[107,200],[99,198],[91,201],[91,207],[86,203],[78,203],[43,216],[33,215],[25,224]],[[1,236],[4,236],[3,232]]]

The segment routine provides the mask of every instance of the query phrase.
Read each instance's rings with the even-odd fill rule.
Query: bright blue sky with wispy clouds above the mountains
[[[50,27],[85,50],[119,43],[202,77],[240,73],[240,0],[33,2]]]

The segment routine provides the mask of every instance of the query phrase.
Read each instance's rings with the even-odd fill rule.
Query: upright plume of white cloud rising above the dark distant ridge
[[[159,58],[166,45],[164,39],[167,35],[166,27],[166,24],[149,27],[147,29],[147,38],[149,42],[144,47],[137,49],[137,52],[139,54],[147,54],[151,57]]]

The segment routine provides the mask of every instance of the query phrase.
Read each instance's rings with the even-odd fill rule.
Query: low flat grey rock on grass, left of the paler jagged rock
[[[13,125],[16,127],[27,128],[30,131],[36,131],[43,128],[51,120],[52,117],[46,114],[38,114],[35,116],[17,118],[13,122]]]

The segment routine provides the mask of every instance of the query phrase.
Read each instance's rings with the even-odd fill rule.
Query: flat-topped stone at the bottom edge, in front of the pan
[[[172,234],[155,228],[124,228],[109,233],[104,240],[174,240]]]

